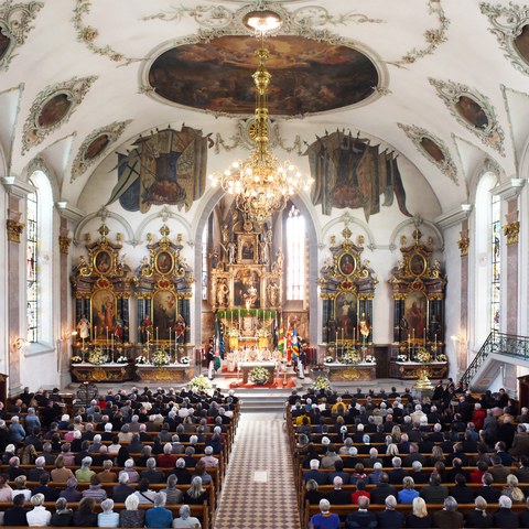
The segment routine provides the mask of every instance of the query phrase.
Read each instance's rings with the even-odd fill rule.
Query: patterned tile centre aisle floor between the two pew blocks
[[[300,529],[282,413],[240,415],[214,529]]]

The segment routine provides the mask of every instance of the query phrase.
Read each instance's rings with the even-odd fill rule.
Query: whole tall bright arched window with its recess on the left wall
[[[47,176],[35,171],[26,197],[25,306],[31,344],[53,342],[53,194]]]

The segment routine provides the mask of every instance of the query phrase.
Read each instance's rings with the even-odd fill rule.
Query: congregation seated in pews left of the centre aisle
[[[237,402],[132,388],[71,417],[58,390],[24,388],[0,403],[3,525],[201,528]]]

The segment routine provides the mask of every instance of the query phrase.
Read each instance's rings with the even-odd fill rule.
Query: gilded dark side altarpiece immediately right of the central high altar
[[[332,258],[320,270],[323,300],[323,341],[338,350],[373,341],[373,299],[378,283],[369,261],[361,260],[363,238],[356,245],[346,227],[343,242],[331,247]]]

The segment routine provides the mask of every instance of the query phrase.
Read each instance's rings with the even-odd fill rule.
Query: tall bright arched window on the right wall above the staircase
[[[493,191],[496,184],[496,175],[485,173],[476,190],[474,227],[476,346],[485,342],[492,330],[499,330],[500,324],[501,227],[500,197]]]

